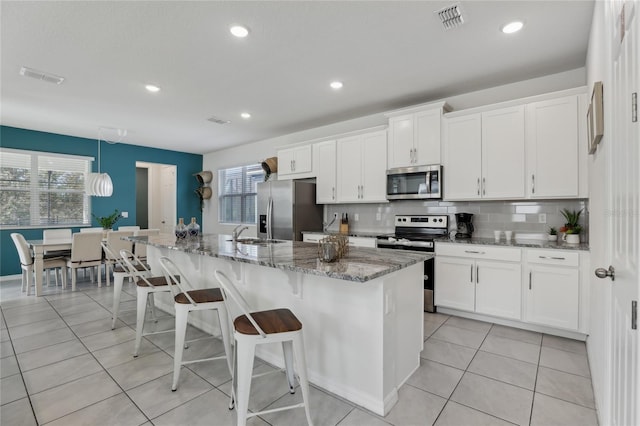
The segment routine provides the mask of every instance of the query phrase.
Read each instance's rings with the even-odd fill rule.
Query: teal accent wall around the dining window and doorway
[[[179,141],[176,141],[176,146]],[[98,171],[97,139],[84,139],[54,133],[37,132],[0,126],[0,146],[3,148],[30,151],[55,152],[94,157],[93,171]],[[135,225],[136,217],[136,161],[175,164],[177,166],[177,217],[195,217],[202,223],[200,200],[194,193],[198,182],[194,173],[202,170],[202,155],[178,151],[147,148],[129,144],[108,144],[102,142],[100,148],[100,169],[109,173],[113,181],[111,197],[91,197],[91,211],[96,216],[106,216],[114,209],[129,212],[128,218],[121,218],[118,225]],[[2,208],[2,206],[0,206]],[[93,219],[92,226],[99,226]],[[78,231],[78,229],[74,229]],[[42,239],[42,228],[1,229],[0,230],[0,276],[20,273],[18,253],[11,240],[12,232],[22,233],[26,239]]]

